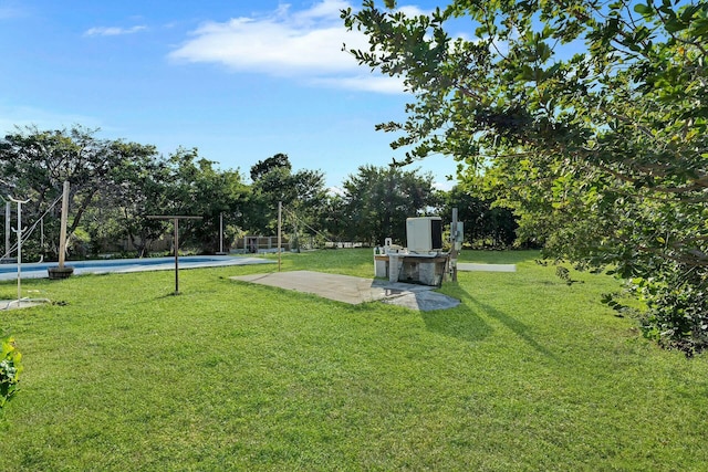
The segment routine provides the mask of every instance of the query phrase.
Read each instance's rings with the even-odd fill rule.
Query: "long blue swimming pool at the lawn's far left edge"
[[[260,258],[230,255],[184,255],[179,258],[179,269],[220,268],[225,265],[273,264],[273,261]],[[56,262],[22,263],[22,279],[49,277],[48,268]],[[74,268],[74,274],[107,274],[144,271],[166,271],[175,269],[175,258],[106,259],[100,261],[67,261],[65,265]],[[0,264],[0,281],[15,280],[18,264]]]

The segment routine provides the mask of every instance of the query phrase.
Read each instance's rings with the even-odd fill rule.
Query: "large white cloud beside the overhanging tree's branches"
[[[367,39],[344,28],[344,0],[322,0],[293,11],[281,4],[266,15],[207,22],[169,54],[178,62],[217,63],[235,71],[291,76],[305,83],[379,93],[402,93],[402,81],[377,74],[362,75],[354,57],[342,51],[368,49]],[[406,12],[420,10],[407,8]]]

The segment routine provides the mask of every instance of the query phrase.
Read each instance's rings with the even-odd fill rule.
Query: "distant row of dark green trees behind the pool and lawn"
[[[489,202],[458,190],[437,191],[433,176],[418,170],[363,166],[335,195],[325,188],[321,171],[293,171],[284,154],[251,166],[247,181],[239,170],[221,170],[196,149],[164,157],[154,146],[100,139],[96,130],[82,127],[27,127],[7,135],[0,140],[0,195],[30,199],[23,220],[42,219],[44,244],[33,237],[24,249],[30,256],[45,259],[58,258],[56,203],[64,180],[71,183],[69,233],[74,250],[85,255],[116,251],[124,241],[145,255],[169,233],[168,222],[148,218],[155,214],[202,217],[199,223],[184,225],[180,240],[198,251],[215,252],[220,217],[227,244],[243,234],[270,235],[277,230],[279,202],[295,245],[303,235],[372,245],[392,237],[405,244],[406,218],[449,214],[454,206],[461,206],[461,219],[469,218],[470,241],[509,245],[514,239],[509,210],[492,210]]]

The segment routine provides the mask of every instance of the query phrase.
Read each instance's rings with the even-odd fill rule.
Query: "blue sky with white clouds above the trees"
[[[439,2],[399,1],[410,11]],[[410,99],[342,52],[358,1],[0,0],[0,133],[100,127],[101,138],[196,147],[222,169],[284,153],[337,187],[402,158],[375,132]],[[410,167],[449,189],[451,158]]]

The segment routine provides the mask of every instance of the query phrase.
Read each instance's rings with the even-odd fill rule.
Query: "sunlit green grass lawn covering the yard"
[[[23,281],[0,312],[23,354],[0,469],[637,470],[708,466],[708,357],[644,340],[534,252],[462,253],[454,310],[351,306],[238,283],[277,265]],[[274,259],[273,256],[269,256]],[[283,270],[372,276],[372,250]],[[0,298],[13,298],[13,282]]]

